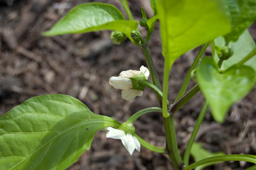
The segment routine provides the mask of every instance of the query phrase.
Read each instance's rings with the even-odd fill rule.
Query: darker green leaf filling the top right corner
[[[224,0],[232,29],[226,42],[236,41],[246,28],[256,19],[256,0]]]

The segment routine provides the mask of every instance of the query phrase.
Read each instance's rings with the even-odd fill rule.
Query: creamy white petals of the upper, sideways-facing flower
[[[125,100],[132,100],[136,96],[142,96],[143,91],[131,89],[133,88],[130,77],[134,77],[140,73],[143,73],[145,77],[148,79],[149,71],[143,65],[140,68],[140,71],[137,70],[127,70],[122,71],[118,77],[109,78],[109,84],[111,84],[114,88],[122,89],[122,98]]]

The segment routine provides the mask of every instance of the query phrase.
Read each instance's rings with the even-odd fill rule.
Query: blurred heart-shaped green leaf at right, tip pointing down
[[[209,100],[213,118],[223,123],[230,106],[243,98],[255,84],[255,71],[242,65],[220,73],[213,58],[204,57],[197,69],[197,81]]]

